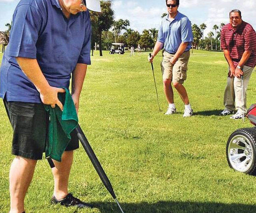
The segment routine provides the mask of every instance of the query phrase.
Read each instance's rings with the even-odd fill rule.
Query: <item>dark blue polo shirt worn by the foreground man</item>
[[[58,0],[21,0],[12,17],[10,41],[0,68],[0,97],[42,103],[15,57],[36,58],[48,83],[69,88],[77,63],[91,64],[89,11],[67,19]]]

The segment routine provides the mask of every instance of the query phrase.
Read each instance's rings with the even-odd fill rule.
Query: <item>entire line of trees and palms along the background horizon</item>
[[[130,26],[129,20],[114,20],[114,11],[112,10],[111,0],[101,0],[100,4],[102,13],[90,11],[90,19],[92,23],[92,55],[95,43],[99,45],[100,56],[102,56],[103,49],[110,49],[111,43],[124,43],[128,48],[131,46],[137,48],[139,44],[140,48],[145,51],[154,47],[158,35],[157,29],[144,29],[142,34],[140,34],[138,31],[128,28]],[[161,17],[163,18],[166,15],[167,13],[163,13]],[[221,23],[219,26],[214,25],[212,29],[215,34],[210,31],[207,34],[208,37],[204,37],[204,30],[207,27],[206,24],[202,23],[200,26],[193,24],[192,31],[194,41],[192,48],[213,50],[215,47],[215,50],[221,50],[220,30],[224,25],[224,23]],[[7,23],[6,26],[8,27],[8,30],[4,32],[4,39],[6,40],[6,43],[8,43],[11,23]]]

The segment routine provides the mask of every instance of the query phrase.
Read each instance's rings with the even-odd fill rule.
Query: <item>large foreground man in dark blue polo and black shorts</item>
[[[100,12],[99,0],[86,0],[86,4],[83,0],[21,0],[15,9],[0,68],[0,97],[12,124],[12,154],[16,155],[9,174],[9,213],[25,212],[25,194],[46,146],[49,115],[44,104],[63,109],[57,95],[65,92],[59,87],[69,88],[72,71],[72,98],[78,113],[87,64],[91,64],[87,8]],[[68,192],[73,150],[78,147],[73,132],[62,161],[54,161],[54,204],[91,207]]]

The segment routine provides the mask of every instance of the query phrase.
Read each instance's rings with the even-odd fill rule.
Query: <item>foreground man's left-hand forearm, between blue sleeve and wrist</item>
[[[44,91],[50,88],[36,59],[17,57],[16,60],[24,74],[32,81],[39,93],[44,93]]]

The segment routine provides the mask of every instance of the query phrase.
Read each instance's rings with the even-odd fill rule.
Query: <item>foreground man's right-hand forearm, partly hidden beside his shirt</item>
[[[72,74],[72,93],[80,96],[83,81],[87,70],[87,64],[77,64]]]

